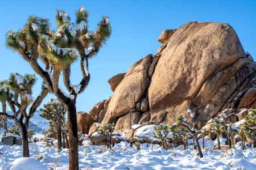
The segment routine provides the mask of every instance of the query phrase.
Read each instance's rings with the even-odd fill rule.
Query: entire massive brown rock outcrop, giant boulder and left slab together
[[[164,44],[154,57],[130,67],[107,109],[106,101],[101,126],[114,122],[126,131],[131,113],[138,113],[134,124],[172,124],[191,109],[200,129],[226,108],[236,122],[244,117],[237,113],[256,107],[256,65],[230,25],[190,22],[164,31],[160,40]]]

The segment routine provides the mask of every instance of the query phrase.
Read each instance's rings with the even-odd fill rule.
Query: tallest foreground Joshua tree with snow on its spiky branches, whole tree
[[[18,52],[32,69],[39,74],[49,91],[64,103],[68,111],[69,169],[79,169],[78,138],[76,122],[76,99],[90,80],[88,59],[95,56],[110,37],[109,18],[103,16],[96,31],[88,30],[88,11],[83,6],[76,11],[75,23],[63,10],[56,10],[57,31],[49,29],[49,20],[30,16],[24,28],[6,35],[6,46]],[[45,68],[39,65],[41,60]],[[71,83],[71,65],[80,61],[82,79],[77,85]],[[59,86],[60,73],[69,94]]]

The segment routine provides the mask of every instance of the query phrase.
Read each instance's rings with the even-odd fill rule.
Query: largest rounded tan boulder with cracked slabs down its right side
[[[163,46],[148,88],[150,111],[170,108],[179,114],[192,105],[199,108],[196,120],[208,121],[254,73],[255,64],[228,24],[185,24]]]

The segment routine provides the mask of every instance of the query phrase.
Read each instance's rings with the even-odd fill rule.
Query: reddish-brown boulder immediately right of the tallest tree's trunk
[[[82,134],[88,134],[90,126],[94,123],[94,118],[86,112],[77,113],[77,130]]]

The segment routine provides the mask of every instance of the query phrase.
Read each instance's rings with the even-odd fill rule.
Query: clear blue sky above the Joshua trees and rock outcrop
[[[112,23],[112,36],[95,58],[89,61],[91,79],[85,92],[77,97],[77,111],[88,112],[98,101],[112,95],[108,79],[125,73],[135,61],[155,54],[161,45],[156,41],[164,29],[174,29],[190,21],[229,23],[236,30],[245,51],[256,59],[256,1],[0,1],[0,79],[11,72],[33,73],[30,65],[5,48],[5,33],[22,28],[28,15],[51,20],[55,26],[55,8],[75,19],[81,4],[89,11],[89,29],[94,30],[102,15]],[[39,78],[39,76],[37,76]],[[73,65],[72,84],[81,78],[79,63]],[[42,79],[34,88],[39,94]],[[64,88],[64,86],[63,86]],[[48,95],[44,103],[52,95]],[[1,107],[0,107],[1,108]]]

